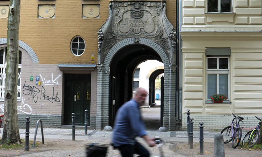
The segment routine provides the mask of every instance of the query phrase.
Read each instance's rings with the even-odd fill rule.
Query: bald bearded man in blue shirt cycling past
[[[134,98],[117,111],[112,143],[120,150],[122,157],[133,157],[133,154],[138,154],[139,157],[149,157],[149,151],[135,139],[136,136],[142,137],[150,147],[156,144],[154,138],[147,136],[139,109],[141,105],[145,104],[147,92],[144,88],[136,88],[135,91]]]

